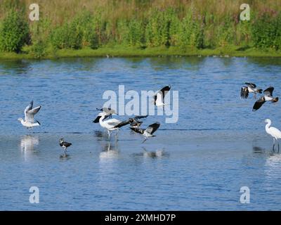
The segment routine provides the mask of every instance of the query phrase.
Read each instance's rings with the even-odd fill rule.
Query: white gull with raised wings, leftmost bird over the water
[[[32,107],[33,107],[33,101],[31,101],[30,105],[28,105],[27,108],[25,108],[25,120],[23,120],[22,118],[18,119],[21,122],[22,126],[27,127],[27,129],[40,126],[39,121],[37,120],[34,121],[34,115],[39,112],[39,110],[41,109],[41,105],[37,106],[36,108],[32,108]]]

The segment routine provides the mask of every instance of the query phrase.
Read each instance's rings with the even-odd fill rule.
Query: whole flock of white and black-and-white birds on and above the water
[[[273,97],[273,90],[274,87],[270,86],[266,90],[262,90],[256,87],[256,84],[253,83],[245,83],[246,86],[242,86],[240,91],[241,98],[248,98],[249,94],[254,94],[254,98],[256,98],[257,94],[263,94],[263,96],[260,96],[259,99],[254,103],[253,111],[259,110],[261,106],[266,103],[267,101],[276,103],[278,101],[278,97]],[[157,107],[164,107],[166,103],[164,103],[164,97],[170,91],[171,86],[164,86],[162,89],[157,91],[157,94],[154,96],[154,105]],[[38,120],[34,120],[34,115],[36,115],[39,110],[41,109],[41,105],[37,106],[36,108],[33,108],[33,101],[30,102],[29,105],[25,108],[25,120],[22,118],[19,118],[18,120],[21,122],[22,126],[29,128],[38,127],[40,126],[40,122]],[[130,124],[130,129],[132,131],[135,131],[138,134],[143,135],[144,140],[143,142],[147,141],[148,138],[154,137],[155,131],[160,127],[159,122],[155,122],[153,124],[150,124],[147,128],[143,129],[141,128],[141,124],[143,122],[141,119],[144,119],[145,117],[148,117],[148,115],[139,115],[136,117],[131,117],[128,120],[117,120],[115,118],[112,118],[112,115],[117,115],[116,111],[112,108],[101,108],[97,110],[100,111],[98,113],[96,119],[93,120],[94,123],[99,123],[100,127],[103,127],[107,130],[108,133],[108,139],[110,139],[110,134],[112,131],[117,131],[115,134],[115,137],[117,138],[118,131],[121,127],[124,127],[128,124]],[[273,137],[273,150],[275,150],[275,145],[277,143],[278,146],[278,152],[280,150],[278,139],[281,139],[281,131],[275,127],[270,127],[271,121],[269,119],[265,120],[266,122],[266,132],[270,134],[270,136]],[[64,139],[60,139],[59,141],[60,146],[64,149],[64,153],[66,155],[67,148],[72,146],[72,143],[69,143],[67,141],[64,141]]]

